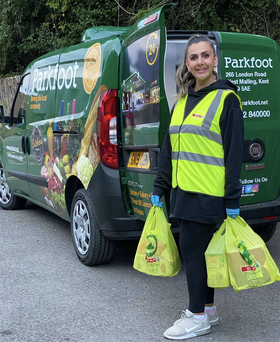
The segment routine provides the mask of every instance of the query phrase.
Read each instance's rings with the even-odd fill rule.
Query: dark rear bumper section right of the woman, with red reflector
[[[274,201],[249,204],[240,207],[240,216],[250,225],[261,225],[280,221],[280,193]],[[274,219],[266,219],[277,216]]]

